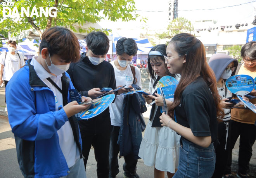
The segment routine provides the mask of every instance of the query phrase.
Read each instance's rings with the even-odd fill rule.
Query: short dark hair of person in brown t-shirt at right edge
[[[243,59],[255,59],[256,58],[256,41],[250,41],[246,43],[241,49],[241,56]]]

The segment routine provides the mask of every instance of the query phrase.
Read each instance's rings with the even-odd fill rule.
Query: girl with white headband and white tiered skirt
[[[161,77],[170,75],[178,79],[178,76],[171,74],[166,67],[166,45],[161,44],[152,48],[148,57],[148,72],[151,77],[149,83],[149,94],[143,94],[146,102],[152,104],[149,122],[145,129],[145,135],[140,144],[138,156],[144,160],[147,166],[154,166],[154,177],[164,178],[164,171],[168,178],[173,177],[178,167],[180,135],[168,127],[162,127],[159,117],[160,107],[163,106],[163,98],[156,93],[157,82]],[[168,101],[168,100],[166,100]]]

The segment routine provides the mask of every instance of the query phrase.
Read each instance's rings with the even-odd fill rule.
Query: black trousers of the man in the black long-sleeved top
[[[108,127],[106,125],[106,127]],[[82,142],[83,142],[83,160],[85,163],[85,168],[89,156],[91,147],[94,148],[95,160],[97,161],[97,176],[98,178],[108,178],[109,177],[109,142],[110,142],[110,132],[106,129],[100,133],[86,132],[83,130],[81,132]]]

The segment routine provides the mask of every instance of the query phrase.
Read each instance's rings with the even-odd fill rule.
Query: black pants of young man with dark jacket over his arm
[[[109,175],[116,176],[119,173],[118,169],[118,153],[119,145],[117,144],[120,127],[113,126],[111,130],[110,145],[109,145]],[[136,171],[136,165],[138,159],[133,158],[133,154],[124,156],[125,163],[123,164],[123,170],[125,172],[133,173]]]

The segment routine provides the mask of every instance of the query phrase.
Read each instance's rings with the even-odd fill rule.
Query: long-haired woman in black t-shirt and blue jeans
[[[181,75],[168,115],[160,116],[163,126],[182,136],[174,178],[211,178],[216,161],[213,142],[217,138],[217,116],[223,116],[223,109],[204,45],[191,34],[177,34],[166,53],[169,71]]]

